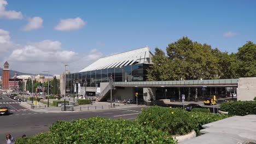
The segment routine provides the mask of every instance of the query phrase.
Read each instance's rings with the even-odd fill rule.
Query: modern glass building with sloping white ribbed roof
[[[109,82],[111,75],[113,82],[146,81],[152,56],[149,47],[146,46],[102,57],[78,73],[66,75],[66,92],[74,94],[78,83],[80,87],[96,89],[102,82]],[[95,92],[92,90],[86,94],[95,95]]]

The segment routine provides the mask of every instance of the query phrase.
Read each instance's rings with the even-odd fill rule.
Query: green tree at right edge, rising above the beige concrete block
[[[256,76],[256,44],[247,41],[245,45],[238,48],[236,58],[238,60],[236,73],[239,77]]]

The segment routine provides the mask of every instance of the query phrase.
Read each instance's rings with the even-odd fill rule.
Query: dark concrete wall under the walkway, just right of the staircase
[[[135,100],[133,97],[133,88],[132,87],[124,87],[124,89],[116,89],[114,93],[115,100],[124,100],[124,99],[132,99]]]

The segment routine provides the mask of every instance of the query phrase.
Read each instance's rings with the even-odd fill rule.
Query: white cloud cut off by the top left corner
[[[22,13],[19,11],[14,11],[14,10],[5,10],[5,7],[7,5],[7,1],[5,0],[0,0],[0,18],[5,18],[5,19],[22,19]]]

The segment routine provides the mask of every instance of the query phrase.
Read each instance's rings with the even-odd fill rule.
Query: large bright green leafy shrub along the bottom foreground
[[[124,119],[57,121],[50,131],[55,143],[176,143],[166,132]]]

